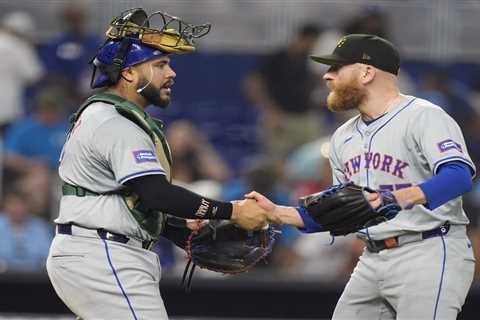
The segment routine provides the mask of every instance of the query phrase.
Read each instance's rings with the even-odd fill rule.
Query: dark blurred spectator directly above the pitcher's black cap
[[[344,32],[374,34],[391,40],[388,21],[386,13],[380,7],[368,6],[345,24]]]

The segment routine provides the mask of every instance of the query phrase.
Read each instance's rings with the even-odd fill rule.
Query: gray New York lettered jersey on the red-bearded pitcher
[[[426,100],[405,98],[369,124],[358,115],[337,129],[330,144],[334,183],[350,180],[394,191],[430,179],[449,161],[464,162],[475,172],[457,123]],[[461,197],[435,210],[421,205],[402,210],[394,219],[363,232],[371,239],[385,239],[406,231],[435,229],[446,221],[468,224]]]

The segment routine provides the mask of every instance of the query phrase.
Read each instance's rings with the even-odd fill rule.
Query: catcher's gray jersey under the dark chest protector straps
[[[165,169],[145,131],[113,105],[96,102],[85,109],[65,143],[59,174],[65,182],[104,193],[135,177],[165,174]],[[120,195],[63,196],[55,222],[150,239]]]

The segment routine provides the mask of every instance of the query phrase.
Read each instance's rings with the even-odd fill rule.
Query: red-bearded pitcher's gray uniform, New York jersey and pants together
[[[389,191],[420,184],[450,161],[475,172],[455,121],[412,96],[368,124],[360,116],[347,121],[332,137],[330,161],[334,183],[350,180]],[[422,233],[447,221],[439,236]],[[363,239],[399,236],[399,246],[364,251],[332,319],[456,319],[475,267],[466,224],[458,197],[435,210],[416,205],[360,231]]]

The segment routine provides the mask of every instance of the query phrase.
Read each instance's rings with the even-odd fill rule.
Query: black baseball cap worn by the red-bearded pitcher
[[[340,39],[332,54],[310,58],[327,65],[364,63],[395,75],[400,68],[400,55],[395,46],[371,34],[349,34]]]

